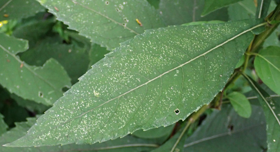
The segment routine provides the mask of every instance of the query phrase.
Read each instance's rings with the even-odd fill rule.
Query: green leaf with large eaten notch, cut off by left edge
[[[10,93],[37,103],[52,105],[71,86],[63,67],[49,59],[43,67],[30,66],[16,54],[28,48],[27,41],[0,33],[0,84]]]

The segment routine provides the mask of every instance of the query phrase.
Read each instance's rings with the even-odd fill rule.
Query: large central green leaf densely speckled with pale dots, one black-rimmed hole
[[[97,62],[8,145],[95,143],[185,120],[222,90],[260,22],[147,30]]]

